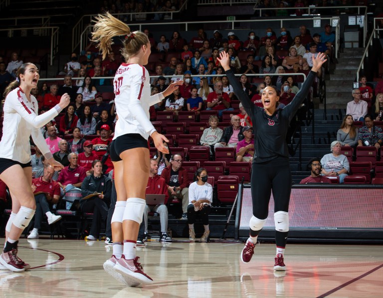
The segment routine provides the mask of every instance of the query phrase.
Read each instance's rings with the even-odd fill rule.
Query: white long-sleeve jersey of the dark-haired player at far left
[[[20,163],[29,162],[30,136],[43,155],[50,152],[39,128],[58,115],[55,108],[37,116],[36,98],[30,95],[29,101],[21,88],[17,87],[6,96],[3,110],[0,158],[8,158]]]

